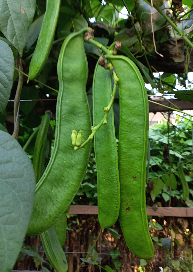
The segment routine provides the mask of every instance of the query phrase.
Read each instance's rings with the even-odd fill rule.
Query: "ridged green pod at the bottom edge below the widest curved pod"
[[[54,226],[40,234],[43,248],[50,264],[56,271],[68,271],[65,253],[60,245]]]

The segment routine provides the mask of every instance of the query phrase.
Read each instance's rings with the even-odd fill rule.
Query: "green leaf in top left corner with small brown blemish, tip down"
[[[0,31],[22,56],[28,29],[36,8],[35,0],[2,0],[0,2]]]

